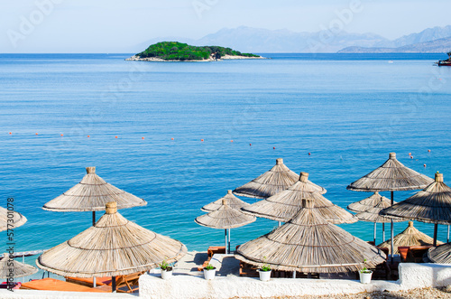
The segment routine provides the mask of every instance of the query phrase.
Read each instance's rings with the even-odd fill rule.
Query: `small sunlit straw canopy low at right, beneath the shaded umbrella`
[[[413,227],[413,221],[409,221],[409,226],[393,238],[393,254],[398,254],[398,247],[403,246],[427,246],[432,245],[433,238]],[[443,244],[438,241],[439,244]],[[380,248],[389,248],[391,239],[378,245]],[[389,248],[391,253],[391,248]]]

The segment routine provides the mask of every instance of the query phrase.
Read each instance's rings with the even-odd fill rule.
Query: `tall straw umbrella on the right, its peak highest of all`
[[[390,153],[389,159],[384,164],[352,182],[346,189],[360,192],[390,191],[393,205],[393,192],[423,189],[431,182],[433,182],[431,178],[404,166],[396,159],[395,153]],[[390,223],[390,234],[393,239],[393,221]]]

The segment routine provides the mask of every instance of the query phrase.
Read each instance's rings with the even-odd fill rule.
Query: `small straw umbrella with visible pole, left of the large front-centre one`
[[[246,215],[241,210],[235,210],[230,208],[228,206],[228,201],[226,199],[223,199],[221,207],[219,209],[211,211],[205,215],[199,216],[194,221],[198,223],[198,225],[207,228],[224,229],[226,238],[226,253],[227,253],[227,248],[228,252],[230,252],[230,229],[242,227],[246,224],[252,223],[255,220],[256,220],[255,217]]]

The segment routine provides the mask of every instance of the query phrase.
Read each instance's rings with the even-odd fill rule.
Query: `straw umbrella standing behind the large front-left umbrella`
[[[81,182],[47,202],[43,210],[92,211],[92,225],[96,223],[96,210],[105,210],[106,202],[116,201],[117,209],[144,206],[146,201],[105,182],[96,174],[96,167],[87,167]]]

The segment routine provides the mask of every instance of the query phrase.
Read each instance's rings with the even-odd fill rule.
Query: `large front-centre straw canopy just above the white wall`
[[[304,199],[303,209],[272,232],[240,246],[235,257],[255,266],[307,273],[339,273],[376,266],[385,260],[383,252],[325,220]]]

